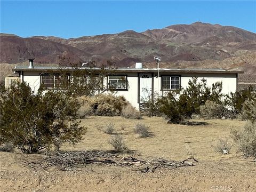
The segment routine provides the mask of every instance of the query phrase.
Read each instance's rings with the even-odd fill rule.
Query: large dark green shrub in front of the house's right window
[[[159,113],[169,118],[168,123],[184,124],[191,118],[192,114],[199,114],[200,106],[205,105],[207,100],[216,103],[221,102],[222,83],[206,85],[206,80],[197,82],[197,78],[189,81],[188,87],[181,90],[179,97],[177,92],[168,92],[164,97],[157,100]]]

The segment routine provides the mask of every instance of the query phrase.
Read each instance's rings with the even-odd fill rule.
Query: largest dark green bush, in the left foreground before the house
[[[85,132],[77,121],[78,107],[61,92],[34,94],[25,83],[12,84],[0,95],[1,142],[12,142],[23,153],[59,148],[63,142],[75,145]]]

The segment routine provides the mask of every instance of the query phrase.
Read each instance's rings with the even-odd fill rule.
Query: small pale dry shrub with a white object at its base
[[[228,141],[228,138],[218,138],[212,144],[212,147],[217,153],[229,154],[229,151],[231,150],[232,147],[232,143]]]

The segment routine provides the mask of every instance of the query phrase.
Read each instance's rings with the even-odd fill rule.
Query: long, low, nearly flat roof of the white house
[[[73,67],[15,67],[12,69],[14,72],[18,71],[58,71],[58,70],[76,70],[76,69],[87,69],[87,70],[102,70],[101,68],[94,67],[81,67],[81,68],[73,68]],[[105,68],[105,70],[115,70],[116,72],[122,73],[157,73],[157,68]],[[171,69],[171,68],[159,68],[159,73],[207,73],[207,74],[241,74],[244,71],[241,70],[227,70],[227,69],[207,69],[207,68],[184,68],[184,69]]]

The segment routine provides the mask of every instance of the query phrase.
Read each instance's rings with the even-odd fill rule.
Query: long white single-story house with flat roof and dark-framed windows
[[[63,69],[63,68],[61,68]],[[31,90],[37,92],[40,85],[44,83],[47,89],[54,89],[58,81],[59,67],[34,67],[33,60],[29,60],[27,67],[15,67],[14,73],[19,74],[22,82],[27,82]],[[66,71],[74,70],[65,67]],[[100,68],[81,67],[78,70],[100,71]],[[50,77],[47,71],[51,70],[54,74]],[[103,78],[103,87],[106,92],[115,89],[116,95],[123,95],[134,107],[140,108],[143,98],[151,97],[155,92],[163,95],[167,91],[186,88],[188,82],[193,77],[198,79],[205,78],[207,85],[222,82],[222,93],[228,94],[237,90],[237,76],[243,71],[232,71],[225,69],[165,69],[165,68],[142,68],[142,63],[136,63],[135,68],[105,69],[115,70],[115,73]],[[68,77],[71,78],[71,77]]]

